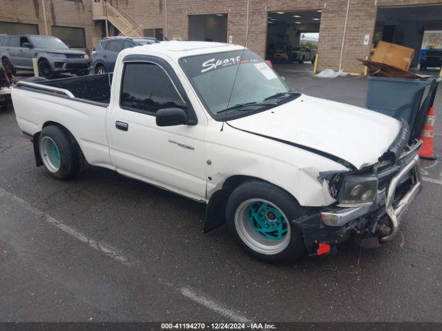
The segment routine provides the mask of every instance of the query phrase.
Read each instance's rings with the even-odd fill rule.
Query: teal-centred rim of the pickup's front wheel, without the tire
[[[235,212],[235,228],[241,240],[261,254],[278,254],[290,242],[287,217],[267,200],[249,199],[242,202]]]

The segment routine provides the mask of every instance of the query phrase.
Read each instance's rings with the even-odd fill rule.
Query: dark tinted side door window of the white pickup
[[[120,104],[149,114],[161,108],[186,109],[169,76],[154,63],[126,63]]]

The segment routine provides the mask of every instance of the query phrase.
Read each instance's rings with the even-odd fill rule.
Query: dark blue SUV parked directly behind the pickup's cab
[[[118,53],[121,52],[121,50],[159,42],[157,39],[150,37],[106,37],[97,43],[95,50],[92,52],[92,66],[90,71],[95,74],[113,72],[115,61],[117,61]]]

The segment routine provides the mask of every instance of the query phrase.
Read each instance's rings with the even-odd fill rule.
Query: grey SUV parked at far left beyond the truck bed
[[[71,50],[52,36],[17,35],[4,37],[0,44],[3,63],[18,70],[33,70],[32,58],[37,58],[39,74],[54,78],[62,72],[83,76],[89,73],[90,59],[83,50]]]

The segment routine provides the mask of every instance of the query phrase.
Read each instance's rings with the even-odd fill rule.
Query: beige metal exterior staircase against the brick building
[[[107,1],[93,3],[93,19],[106,19],[119,30],[119,36],[142,37],[143,28],[126,10]]]

